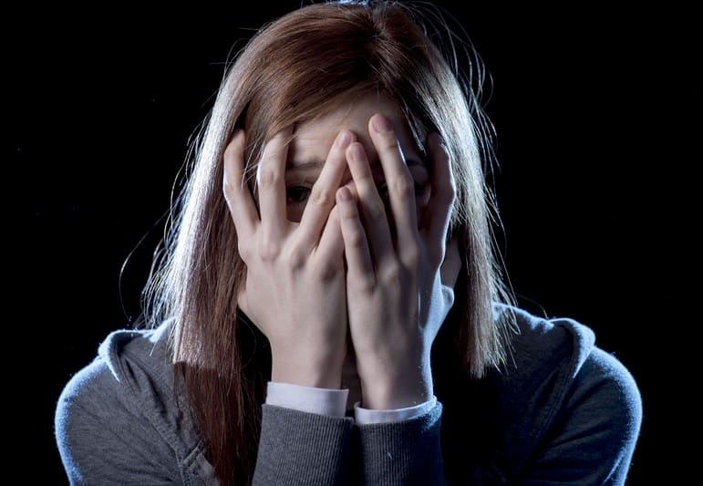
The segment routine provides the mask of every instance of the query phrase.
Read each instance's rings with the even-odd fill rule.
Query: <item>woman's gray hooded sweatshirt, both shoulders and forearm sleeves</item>
[[[635,380],[588,327],[512,310],[509,366],[436,388],[421,417],[355,425],[263,404],[253,483],[623,484],[642,419]],[[217,484],[174,392],[170,326],[111,333],[68,381],[56,436],[72,484]]]

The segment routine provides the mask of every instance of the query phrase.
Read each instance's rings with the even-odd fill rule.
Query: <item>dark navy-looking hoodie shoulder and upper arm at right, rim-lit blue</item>
[[[572,318],[541,317],[508,306],[498,311],[512,312],[516,323],[508,363],[490,377],[499,419],[508,424],[506,463],[516,467],[516,458],[529,453],[538,458],[532,468],[540,461],[561,467],[570,460],[583,462],[583,468],[567,467],[562,474],[624,475],[642,419],[630,371],[596,346],[591,328]],[[586,463],[587,457],[593,463]]]

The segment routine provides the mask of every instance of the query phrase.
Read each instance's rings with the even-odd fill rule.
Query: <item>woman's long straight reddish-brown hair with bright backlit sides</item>
[[[251,481],[271,377],[266,339],[237,306],[246,269],[222,193],[222,154],[234,129],[246,131],[246,182],[254,195],[252,174],[264,142],[349,98],[374,92],[397,102],[420,150],[430,131],[439,132],[456,180],[451,231],[460,237],[464,262],[455,305],[433,347],[443,357],[436,363],[433,354],[433,372],[482,377],[505,359],[509,323],[494,318],[491,307],[511,299],[497,264],[491,224],[497,212],[485,183],[489,129],[475,90],[433,42],[440,28],[424,21],[429,15],[442,18],[397,2],[306,5],[264,26],[226,68],[144,291],[148,322],[173,318],[173,366],[223,483]]]

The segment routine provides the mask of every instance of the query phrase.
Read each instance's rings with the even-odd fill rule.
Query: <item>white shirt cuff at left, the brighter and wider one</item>
[[[266,403],[302,412],[344,417],[348,389],[313,388],[291,383],[268,382]]]

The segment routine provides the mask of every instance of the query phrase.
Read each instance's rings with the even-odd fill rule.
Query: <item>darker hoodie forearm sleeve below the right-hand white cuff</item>
[[[412,419],[358,425],[364,483],[446,484],[439,429],[442,404]]]

